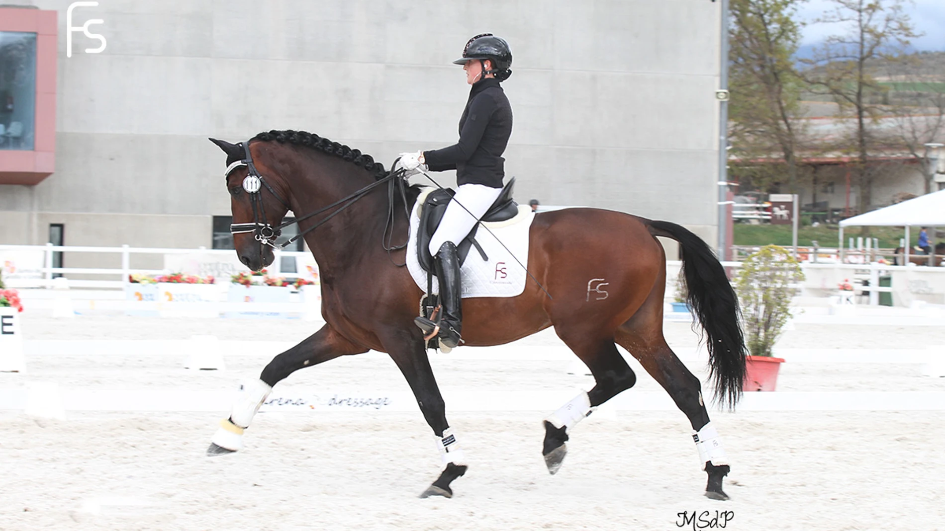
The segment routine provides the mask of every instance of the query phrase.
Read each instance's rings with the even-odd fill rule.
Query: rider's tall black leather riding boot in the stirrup
[[[439,280],[439,314],[437,321],[425,317],[414,319],[427,337],[436,334],[440,344],[455,348],[462,340],[459,333],[462,329],[463,314],[460,307],[461,295],[459,284],[459,257],[456,256],[456,246],[447,241],[439,247],[435,260],[437,278]]]

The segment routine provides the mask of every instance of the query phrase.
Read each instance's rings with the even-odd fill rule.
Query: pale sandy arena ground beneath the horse
[[[27,316],[23,331],[27,340],[214,334],[251,346],[261,339],[260,323],[265,336],[289,341],[318,327],[299,321]],[[667,324],[666,335],[680,351],[696,346],[688,324]],[[779,345],[919,349],[927,343],[945,344],[945,330],[798,324]],[[560,342],[546,331],[521,344]],[[34,380],[96,390],[229,389],[276,354],[228,357],[227,371],[195,373],[180,368],[180,353],[78,355],[63,345],[61,354],[27,356],[29,373],[0,373],[0,389]],[[590,384],[567,374],[557,360],[438,359],[435,365],[444,390]],[[627,393],[660,390],[637,373],[638,385]],[[393,363],[381,357],[335,360],[281,385],[359,383],[406,388]],[[943,391],[945,378],[923,376],[915,363],[789,362],[779,389]],[[246,450],[214,458],[204,451],[225,411],[70,411],[65,420],[50,420],[0,410],[0,529],[693,528],[679,525],[684,511],[710,519],[730,511],[726,528],[736,530],[945,529],[941,411],[714,412],[732,464],[725,482],[728,502],[702,496],[705,474],[679,411],[592,415],[577,426],[554,476],[541,459],[541,418],[549,412],[451,414],[469,473],[455,481],[453,499],[421,500],[417,494],[438,474],[438,456],[419,410],[267,412],[247,432]]]

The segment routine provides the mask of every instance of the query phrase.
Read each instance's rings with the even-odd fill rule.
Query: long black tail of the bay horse
[[[685,227],[649,220],[647,225],[653,236],[679,241],[682,247],[682,274],[689,291],[686,302],[709,336],[709,374],[714,379],[715,396],[734,407],[742,396],[747,349],[738,297],[729,277],[706,242]]]

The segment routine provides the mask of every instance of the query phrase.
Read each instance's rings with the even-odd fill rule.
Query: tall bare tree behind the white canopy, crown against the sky
[[[850,151],[857,158],[860,212],[867,211],[872,204],[875,172],[870,171],[868,158],[876,136],[870,125],[879,116],[883,103],[876,96],[885,91],[876,81],[870,64],[875,59],[889,61],[901,57],[899,50],[918,36],[903,12],[904,1],[831,0],[833,9],[816,22],[838,24],[847,32],[829,37],[812,58],[804,61],[810,66],[804,76],[812,90],[833,96],[841,109],[855,118]]]

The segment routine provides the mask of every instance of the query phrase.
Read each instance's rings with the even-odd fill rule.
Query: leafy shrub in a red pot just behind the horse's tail
[[[749,354],[743,390],[775,390],[784,359],[773,357],[772,349],[791,317],[792,284],[803,279],[798,261],[778,245],[765,245],[742,262],[735,291]]]

